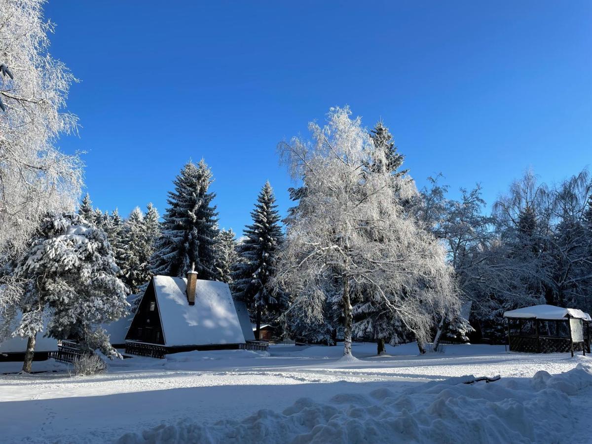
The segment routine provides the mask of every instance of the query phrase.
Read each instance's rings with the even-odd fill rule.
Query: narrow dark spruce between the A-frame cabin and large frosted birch
[[[283,239],[277,207],[274,190],[269,181],[265,182],[251,212],[253,223],[243,231],[246,239],[240,244],[241,260],[233,274],[235,297],[246,301],[255,315],[257,339],[262,315],[277,314],[284,300],[282,292],[276,291],[272,283]]]

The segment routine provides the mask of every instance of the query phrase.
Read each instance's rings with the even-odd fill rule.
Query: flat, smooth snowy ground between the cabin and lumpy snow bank
[[[162,422],[239,420],[262,408],[282,411],[303,397],[324,403],[340,394],[398,393],[467,374],[530,378],[539,370],[566,372],[582,361],[493,346],[449,346],[445,354],[430,356],[414,355],[412,346],[388,352],[392,356],[376,357],[372,345],[356,346],[362,360],[344,363],[337,362],[339,348],[278,346],[272,356],[237,350],[126,359],[94,377],[0,376],[2,442],[108,442]],[[52,364],[36,362],[34,370],[35,365]],[[590,410],[583,405],[578,411],[585,408]]]

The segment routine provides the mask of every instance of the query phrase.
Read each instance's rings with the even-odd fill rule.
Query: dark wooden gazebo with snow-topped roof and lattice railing
[[[576,308],[534,305],[506,311],[508,343],[513,352],[590,353],[588,313]]]

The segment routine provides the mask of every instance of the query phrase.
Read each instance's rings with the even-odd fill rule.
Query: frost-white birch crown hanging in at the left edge
[[[43,3],[0,0],[0,252],[24,247],[46,211],[74,210],[81,192],[81,162],[55,146],[76,130],[62,112],[75,79],[47,53]]]

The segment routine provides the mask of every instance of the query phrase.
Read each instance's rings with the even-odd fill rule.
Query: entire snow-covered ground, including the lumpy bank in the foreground
[[[1,441],[592,442],[592,359],[375,346],[355,345],[352,362],[339,346],[131,358],[91,377],[34,362],[49,372],[0,375]]]

